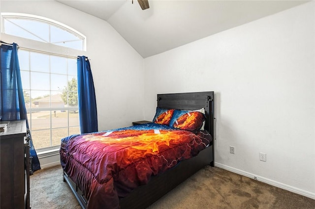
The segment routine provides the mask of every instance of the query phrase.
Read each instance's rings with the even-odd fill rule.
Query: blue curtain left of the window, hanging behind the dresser
[[[18,59],[17,44],[12,46],[0,46],[1,60],[1,99],[2,121],[26,120],[29,129],[27,111],[24,102],[20,65]],[[32,157],[32,171],[40,169],[39,160],[33,146],[32,136],[30,140],[30,152]]]

